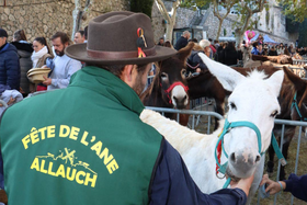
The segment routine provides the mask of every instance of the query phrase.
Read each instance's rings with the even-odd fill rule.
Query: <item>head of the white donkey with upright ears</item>
[[[245,77],[205,55],[200,56],[223,87],[232,91],[228,99],[230,125],[224,135],[227,173],[236,178],[250,176],[271,143],[284,73],[276,71],[268,78],[264,72],[254,70]]]

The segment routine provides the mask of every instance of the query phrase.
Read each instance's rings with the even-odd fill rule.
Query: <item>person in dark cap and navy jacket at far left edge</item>
[[[20,90],[20,61],[15,46],[7,42],[8,33],[0,27],[0,84],[5,90]]]

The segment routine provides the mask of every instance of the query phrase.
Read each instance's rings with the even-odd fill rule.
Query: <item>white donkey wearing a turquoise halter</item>
[[[203,54],[200,56],[223,87],[232,91],[228,99],[229,112],[225,119],[229,122],[229,127],[224,138],[220,138],[225,149],[220,164],[227,167],[226,173],[232,179],[248,178],[255,171],[248,197],[249,204],[263,174],[265,158],[263,153],[271,143],[274,118],[280,112],[277,96],[284,72],[277,71],[269,79],[259,71],[245,77]],[[212,135],[204,135],[149,110],[145,110],[140,118],[161,133],[181,153],[193,180],[204,193],[223,187],[226,179],[217,178],[215,158],[218,134],[223,127]],[[220,122],[221,126],[225,121]]]

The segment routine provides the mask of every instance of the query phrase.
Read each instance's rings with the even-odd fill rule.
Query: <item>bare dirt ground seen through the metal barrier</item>
[[[197,110],[213,111],[213,106],[208,105],[208,106],[197,109]],[[190,125],[192,123],[191,118],[192,117],[190,117]],[[213,118],[211,121],[213,122]],[[195,130],[206,134],[207,133],[207,122],[208,122],[208,118],[206,116],[201,116],[200,121],[198,121],[198,125],[195,126]],[[211,127],[211,130],[213,130],[213,127]],[[289,173],[295,172],[295,159],[296,159],[296,152],[297,152],[298,130],[299,130],[299,128],[297,127],[296,135],[293,138],[291,146],[289,146],[289,152],[288,152],[288,159],[287,159],[288,164],[285,167],[286,178],[288,176]],[[305,137],[305,134],[302,133],[302,139],[300,139],[300,145],[299,145],[298,166],[297,166],[298,175],[307,173],[307,155],[306,153],[307,153],[307,137]],[[266,158],[268,158],[268,153],[266,153]],[[274,160],[274,164],[277,164],[276,157]],[[264,168],[264,171],[265,171],[265,168]],[[277,173],[277,166],[275,166],[275,168],[274,168],[273,176],[271,176],[272,180],[276,180],[276,173]],[[260,205],[273,205],[274,196],[270,196],[268,198],[258,198],[258,194],[257,194],[251,204],[257,205],[258,201],[259,201]],[[276,205],[289,205],[291,202],[292,202],[292,194],[286,193],[286,192],[276,194]],[[306,205],[306,202],[294,198],[293,204],[294,205],[303,205],[303,204]]]

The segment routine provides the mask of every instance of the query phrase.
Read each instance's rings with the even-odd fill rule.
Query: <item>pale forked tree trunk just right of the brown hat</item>
[[[175,15],[179,5],[182,3],[182,0],[174,0],[172,2],[172,10],[168,12],[162,0],[155,0],[160,13],[163,15],[167,21],[167,39],[172,41],[172,32],[175,24]]]

